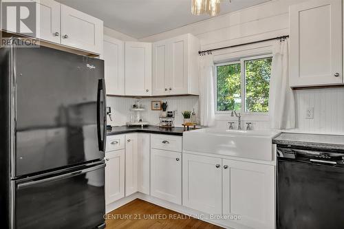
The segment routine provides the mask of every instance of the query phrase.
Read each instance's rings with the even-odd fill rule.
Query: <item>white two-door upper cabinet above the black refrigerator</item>
[[[103,21],[53,0],[32,0],[39,12],[36,38],[83,50],[103,51]],[[15,28],[8,28],[16,33]]]

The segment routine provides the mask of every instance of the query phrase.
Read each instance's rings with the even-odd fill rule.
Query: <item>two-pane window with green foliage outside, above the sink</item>
[[[267,113],[271,63],[271,56],[256,56],[215,65],[217,113]]]

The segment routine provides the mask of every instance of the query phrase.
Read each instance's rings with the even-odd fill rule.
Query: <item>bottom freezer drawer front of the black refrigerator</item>
[[[96,228],[104,223],[105,164],[16,182],[16,229]]]

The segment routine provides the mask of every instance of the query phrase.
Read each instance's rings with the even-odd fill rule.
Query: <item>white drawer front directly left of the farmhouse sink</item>
[[[182,152],[182,137],[152,134],[151,135],[151,148],[162,149],[166,151]]]

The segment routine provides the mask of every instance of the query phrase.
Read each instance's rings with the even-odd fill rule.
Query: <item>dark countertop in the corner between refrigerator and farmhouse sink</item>
[[[178,135],[182,136],[184,132],[183,127],[173,127],[171,129],[161,128],[157,126],[147,126],[147,127],[112,127],[111,131],[107,131],[107,135],[116,135],[122,133],[134,133],[134,132],[141,132],[141,133],[160,133],[160,134],[168,134],[168,135]]]

